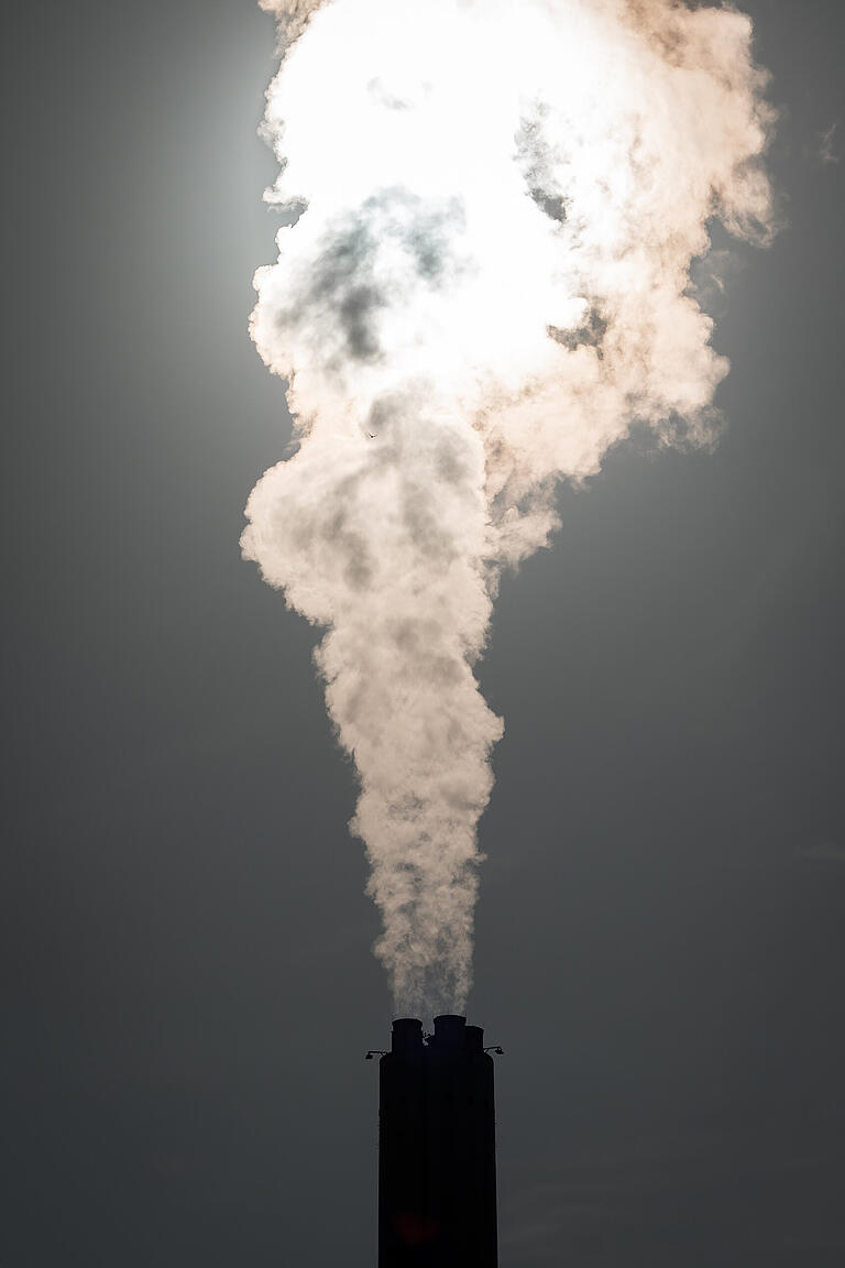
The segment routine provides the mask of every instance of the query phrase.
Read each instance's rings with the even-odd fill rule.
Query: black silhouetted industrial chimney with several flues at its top
[[[379,1268],[497,1268],[484,1031],[446,1014],[423,1035],[403,1017],[379,1075]]]

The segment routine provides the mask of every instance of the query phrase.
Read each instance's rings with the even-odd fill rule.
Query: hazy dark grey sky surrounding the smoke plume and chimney
[[[845,1252],[845,6],[744,8],[789,228],[715,304],[730,431],[564,492],[481,668],[502,1268]],[[272,24],[9,23],[0,1263],[374,1268],[353,773],[238,553],[289,435],[246,332]]]

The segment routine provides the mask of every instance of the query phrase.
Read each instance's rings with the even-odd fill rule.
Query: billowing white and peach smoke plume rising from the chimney
[[[267,197],[296,223],[252,335],[299,449],[253,489],[243,553],[326,630],[378,952],[397,1008],[428,1014],[470,985],[499,571],[633,422],[712,440],[727,363],[690,264],[715,218],[769,235],[772,114],[732,9],[262,4],[286,43]]]

